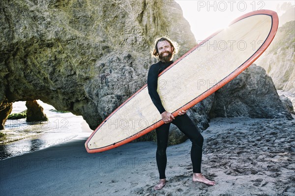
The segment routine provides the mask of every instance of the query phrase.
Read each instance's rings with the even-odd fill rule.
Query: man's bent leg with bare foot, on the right
[[[204,138],[187,114],[179,115],[172,121],[178,129],[191,141],[191,161],[193,164],[193,181],[203,182],[207,185],[214,185],[214,181],[205,178],[201,173],[202,151]]]

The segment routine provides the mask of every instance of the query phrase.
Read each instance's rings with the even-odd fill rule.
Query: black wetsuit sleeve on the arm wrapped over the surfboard
[[[152,103],[156,106],[160,113],[165,112],[160,96],[157,92],[158,86],[158,69],[155,65],[152,65],[148,71],[148,94],[151,98]]]

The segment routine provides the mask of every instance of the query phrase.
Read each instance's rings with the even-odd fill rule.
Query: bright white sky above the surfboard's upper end
[[[283,3],[295,4],[295,0],[176,0],[184,18],[189,22],[196,41],[204,40],[231,21],[248,12],[270,9],[280,17],[285,10]]]

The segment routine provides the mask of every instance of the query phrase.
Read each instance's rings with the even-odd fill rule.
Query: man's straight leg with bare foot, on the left
[[[169,124],[163,124],[162,126],[156,128],[157,133],[157,152],[156,160],[157,166],[160,174],[160,181],[154,186],[155,190],[161,190],[166,184],[166,165],[167,165],[167,156],[166,149],[168,145],[168,135],[169,135]]]

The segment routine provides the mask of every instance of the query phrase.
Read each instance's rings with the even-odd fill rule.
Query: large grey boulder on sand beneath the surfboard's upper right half
[[[238,116],[293,119],[265,69],[255,64],[215,92],[210,117]]]

